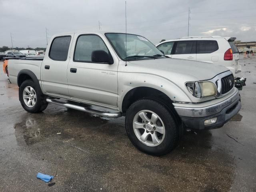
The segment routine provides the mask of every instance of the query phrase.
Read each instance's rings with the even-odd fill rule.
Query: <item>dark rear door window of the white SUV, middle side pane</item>
[[[194,54],[196,53],[196,41],[178,41],[174,54]]]

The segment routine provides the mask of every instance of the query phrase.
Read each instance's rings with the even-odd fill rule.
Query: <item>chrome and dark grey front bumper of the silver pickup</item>
[[[197,130],[220,128],[241,109],[240,94],[237,90],[226,100],[210,106],[200,108],[174,106],[174,108],[188,128]],[[213,120],[212,124],[207,124],[206,120]]]

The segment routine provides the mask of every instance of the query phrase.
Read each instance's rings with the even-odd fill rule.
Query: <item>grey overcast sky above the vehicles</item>
[[[256,41],[256,0],[126,0],[127,32],[161,39],[234,36]],[[48,37],[74,30],[125,32],[125,0],[0,0],[0,47],[46,47]]]

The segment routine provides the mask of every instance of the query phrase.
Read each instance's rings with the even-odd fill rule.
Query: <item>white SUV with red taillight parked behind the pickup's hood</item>
[[[193,36],[166,40],[156,47],[171,58],[208,62],[225,66],[240,77],[239,52],[235,37]]]

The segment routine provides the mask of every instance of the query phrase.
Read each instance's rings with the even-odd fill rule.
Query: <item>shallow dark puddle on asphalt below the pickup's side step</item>
[[[55,115],[25,114],[22,122],[16,123],[14,128],[18,145],[29,146],[48,137],[83,138],[86,132],[92,132],[95,127],[100,127],[106,122],[108,120],[84,112],[66,110]],[[57,134],[60,132],[61,134]]]

